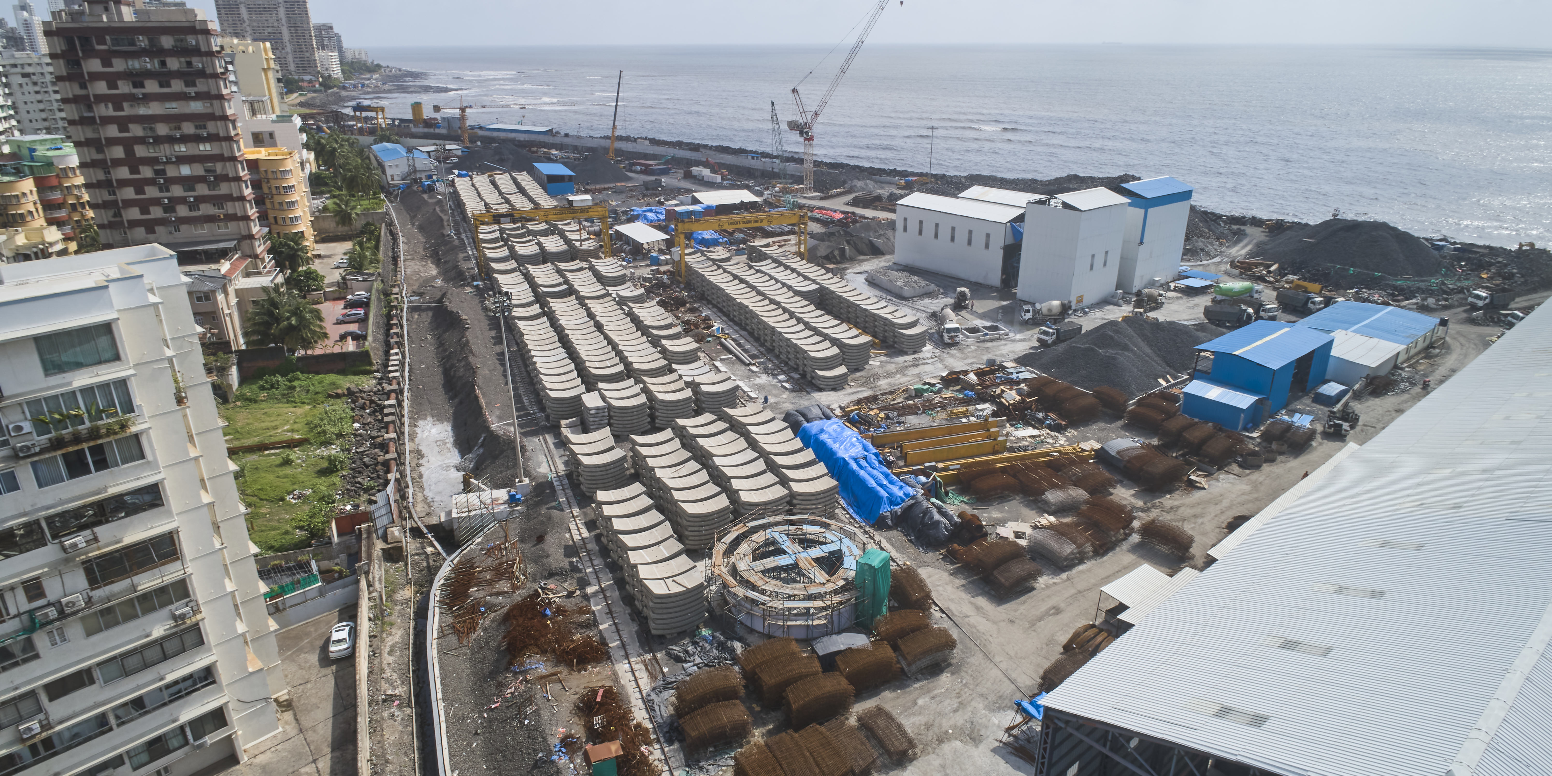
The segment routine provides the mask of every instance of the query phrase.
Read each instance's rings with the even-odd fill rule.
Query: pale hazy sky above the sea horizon
[[[1552,48],[1547,0],[889,0],[877,43],[1380,43]],[[352,48],[835,43],[871,0],[312,0]],[[216,17],[211,0],[189,0]],[[681,8],[681,12],[672,12]]]

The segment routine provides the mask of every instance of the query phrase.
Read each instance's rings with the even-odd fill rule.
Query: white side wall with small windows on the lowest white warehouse
[[[967,236],[973,244],[967,244]],[[1007,223],[905,205],[896,208],[894,261],[906,267],[996,287],[1003,284],[1003,247],[1009,241]]]

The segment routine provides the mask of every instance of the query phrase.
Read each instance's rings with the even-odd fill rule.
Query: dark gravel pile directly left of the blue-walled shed
[[[1197,346],[1225,334],[1204,323],[1122,318],[1062,345],[1035,348],[1015,362],[1088,391],[1108,385],[1139,396],[1158,390],[1161,377],[1189,372]]]

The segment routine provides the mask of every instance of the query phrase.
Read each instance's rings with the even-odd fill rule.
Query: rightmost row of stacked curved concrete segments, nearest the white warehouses
[[[759,241],[748,245],[750,267],[770,275],[778,282],[790,289],[798,296],[818,293],[810,300],[818,309],[871,334],[874,338],[899,348],[905,352],[917,352],[927,348],[927,326],[920,318],[909,315],[899,307],[857,289],[837,278],[816,264],[809,264],[801,256],[760,245]]]

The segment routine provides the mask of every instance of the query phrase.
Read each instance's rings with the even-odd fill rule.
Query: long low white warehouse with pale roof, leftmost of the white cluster
[[[1004,286],[1006,245],[1024,208],[916,192],[896,205],[894,261],[984,286]]]

